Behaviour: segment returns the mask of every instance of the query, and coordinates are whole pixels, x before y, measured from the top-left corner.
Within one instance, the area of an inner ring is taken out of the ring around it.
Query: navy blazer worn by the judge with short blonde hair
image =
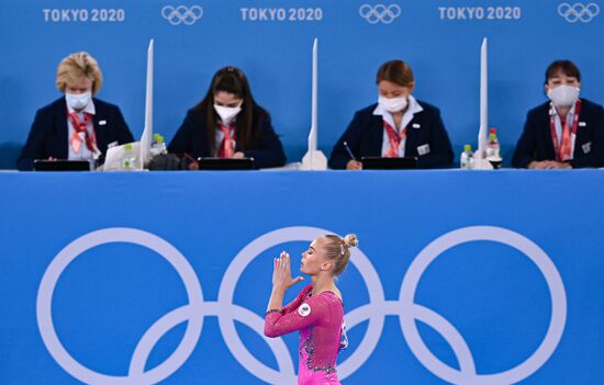
[[[97,135],[97,147],[104,157],[107,146],[113,141],[122,145],[134,141],[122,112],[116,105],[99,99],[94,102],[92,118]],[[103,122],[102,125],[99,122]],[[37,110],[27,140],[16,160],[21,171],[33,170],[35,159],[67,159],[69,156],[69,128],[67,125],[67,102],[65,98]]]

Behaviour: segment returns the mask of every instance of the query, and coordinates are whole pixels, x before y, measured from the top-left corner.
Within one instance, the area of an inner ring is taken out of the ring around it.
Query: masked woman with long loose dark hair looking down
[[[254,158],[256,168],[286,163],[268,112],[256,104],[244,72],[219,70],[205,98],[189,110],[168,150],[181,157]],[[191,162],[190,169],[198,163]]]

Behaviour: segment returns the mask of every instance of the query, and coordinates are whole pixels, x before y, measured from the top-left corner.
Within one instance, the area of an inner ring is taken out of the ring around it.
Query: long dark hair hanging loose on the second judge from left
[[[237,115],[237,124],[235,126],[235,137],[238,147],[248,149],[254,145],[254,120],[256,102],[251,95],[249,83],[244,72],[236,67],[221,68],[212,78],[212,83],[208,89],[208,93],[203,100],[193,109],[200,113],[205,113],[208,143],[210,151],[213,154],[215,149],[215,129],[219,124],[219,116],[214,111],[214,95],[219,92],[233,93],[242,99],[242,112]]]

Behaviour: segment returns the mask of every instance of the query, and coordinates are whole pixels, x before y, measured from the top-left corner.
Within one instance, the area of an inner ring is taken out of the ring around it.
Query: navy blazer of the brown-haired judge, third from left
[[[424,169],[448,167],[452,163],[454,152],[449,136],[440,118],[440,112],[434,105],[417,101],[424,109],[413,115],[407,125],[405,139],[405,157],[417,157],[417,167]],[[378,104],[372,104],[355,113],[353,122],[334,146],[329,157],[332,169],[345,169],[350,155],[344,147],[344,141],[360,160],[362,157],[380,157],[382,155],[383,120],[373,115]],[[413,125],[420,125],[414,128]],[[428,145],[429,152],[417,154],[417,147]]]

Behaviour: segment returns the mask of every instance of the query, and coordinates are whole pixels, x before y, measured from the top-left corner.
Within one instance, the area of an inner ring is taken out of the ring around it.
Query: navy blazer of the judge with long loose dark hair
[[[205,112],[197,109],[189,110],[180,128],[170,141],[168,151],[178,155],[186,152],[195,159],[211,157],[205,116]],[[268,112],[260,106],[256,106],[254,122],[255,144],[253,148],[242,150],[237,143],[235,151],[242,151],[246,157],[254,158],[254,165],[258,169],[286,165],[286,152],[283,152],[279,136],[272,128]]]

